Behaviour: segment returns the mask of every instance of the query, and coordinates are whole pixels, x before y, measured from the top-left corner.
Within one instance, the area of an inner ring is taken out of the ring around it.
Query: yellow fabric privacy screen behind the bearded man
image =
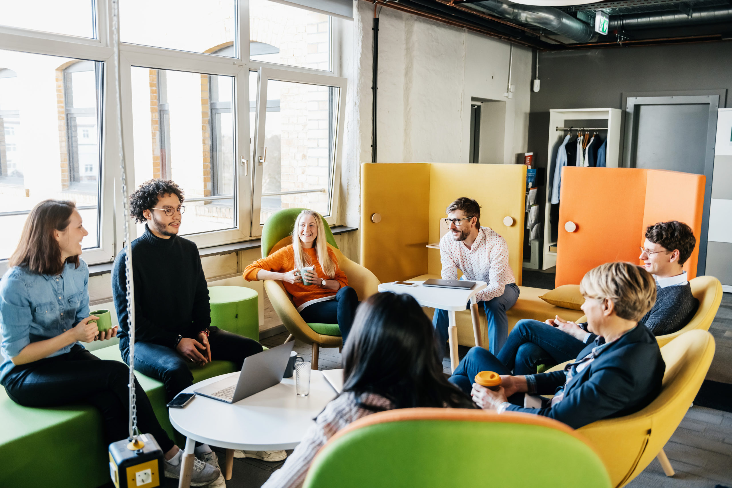
[[[481,206],[480,224],[506,239],[516,283],[523,265],[525,165],[361,165],[361,264],[381,282],[440,274],[440,219],[458,197]],[[378,214],[378,215],[375,215]],[[511,225],[504,224],[511,217]],[[379,220],[380,219],[380,220]],[[379,222],[375,222],[379,220]]]

